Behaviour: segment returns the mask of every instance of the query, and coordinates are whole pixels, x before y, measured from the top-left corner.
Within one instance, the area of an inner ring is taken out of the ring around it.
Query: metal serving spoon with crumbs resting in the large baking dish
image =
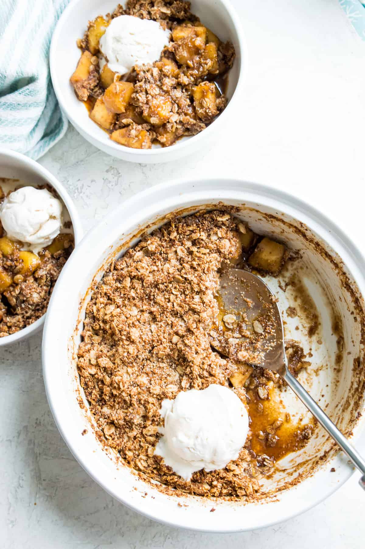
[[[318,406],[317,402],[312,399],[299,381],[289,372],[284,348],[282,315],[271,290],[256,275],[252,275],[252,273],[243,271],[242,269],[229,268],[222,273],[220,279],[220,298],[224,311],[244,321],[245,327],[250,334],[256,332],[255,352],[249,358],[245,359],[245,362],[251,364],[251,366],[263,366],[273,372],[277,372],[287,382],[296,396],[299,397],[327,433],[337,442],[355,467],[360,470],[362,473],[360,485],[365,490],[365,461],[355,448],[349,444],[349,441],[342,435],[327,414],[323,412],[322,408]],[[229,320],[231,319],[228,318]],[[223,337],[212,341],[212,346],[218,351],[224,355],[231,356],[229,355],[229,351],[227,351],[227,345],[225,345]]]

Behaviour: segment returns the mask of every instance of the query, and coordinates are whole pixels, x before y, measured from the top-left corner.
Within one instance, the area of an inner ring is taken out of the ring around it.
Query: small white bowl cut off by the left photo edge
[[[65,191],[65,188],[59,181],[57,181],[52,173],[38,164],[35,160],[28,158],[24,154],[16,153],[9,149],[0,148],[0,177],[20,179],[40,185],[48,183],[51,187],[53,187],[64,201],[66,209],[70,214],[75,236],[75,245],[80,242],[82,238],[82,226],[78,213],[72,203],[70,195],[67,191]],[[5,335],[5,337],[0,338],[0,347],[9,345],[10,343],[15,343],[15,341],[20,341],[21,339],[27,339],[30,335],[38,332],[43,327],[45,316],[46,315],[41,316],[41,318],[38,318],[36,322],[33,322],[29,326],[19,330],[19,332]]]

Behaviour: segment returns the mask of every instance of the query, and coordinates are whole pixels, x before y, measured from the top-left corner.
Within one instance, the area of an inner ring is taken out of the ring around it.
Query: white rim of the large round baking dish
[[[218,191],[214,194],[214,199],[221,199],[223,202],[224,200],[229,199],[236,199],[237,197],[237,191],[239,189],[241,196],[239,199],[242,199],[242,194],[247,194],[246,200],[254,201],[256,198],[262,200],[261,204],[270,205],[271,203],[274,203],[276,206],[279,205],[282,206],[281,211],[289,212],[289,215],[291,215],[291,210],[295,211],[296,216],[300,216],[299,219],[302,220],[302,217],[304,217],[304,222],[311,227],[311,225],[315,225],[316,227],[319,226],[322,229],[322,233],[319,235],[321,238],[326,240],[328,242],[328,239],[332,240],[332,234],[335,235],[335,242],[337,244],[338,248],[341,248],[342,251],[345,251],[345,255],[347,257],[347,261],[344,260],[347,268],[349,268],[353,278],[355,279],[358,288],[362,295],[365,295],[365,277],[363,275],[364,269],[365,269],[365,257],[361,253],[361,251],[357,248],[356,244],[353,243],[353,241],[347,237],[347,235],[338,227],[335,225],[335,223],[330,220],[327,216],[322,214],[321,211],[314,208],[312,205],[306,203],[306,201],[298,199],[294,197],[294,195],[291,195],[290,193],[283,192],[283,191],[276,191],[276,189],[273,189],[272,187],[265,186],[262,184],[256,184],[256,183],[250,183],[245,181],[239,181],[234,180],[231,178],[216,178],[216,179],[207,179],[204,181],[204,192],[208,193],[210,192],[209,189],[212,189],[214,184],[216,187],[218,187]],[[167,189],[170,190],[170,192],[173,192],[173,197],[175,199],[178,199],[183,195],[183,198],[188,200],[187,197],[192,198],[193,193],[196,194],[196,204],[201,203],[200,200],[202,200],[203,195],[200,193],[201,191],[201,185],[202,181],[199,180],[188,180],[188,179],[181,179],[178,181],[175,181],[173,183],[171,182],[165,182],[158,184],[156,186],[150,187],[149,189],[138,193],[131,197],[130,199],[126,200],[123,204],[119,205],[117,208],[114,209],[113,212],[111,212],[110,215],[110,224],[113,225],[113,222],[116,223],[116,225],[120,224],[120,219],[122,219],[121,214],[123,211],[125,212],[132,212],[133,209],[137,209],[139,205],[142,204],[142,201],[146,202],[146,199],[151,197],[151,195],[159,194],[162,196],[162,203],[163,201],[163,195],[164,191],[167,191]],[[181,193],[176,191],[179,187],[183,186],[184,188],[187,188],[188,190],[184,192],[183,190]],[[227,191],[227,188],[229,188],[229,191]],[[212,194],[210,196],[212,196]],[[221,195],[221,196],[220,196]],[[207,198],[206,195],[204,195],[204,198],[207,200],[207,203],[209,203],[209,198]],[[244,200],[243,200],[244,202]],[[156,198],[154,200],[154,204],[157,204]],[[159,201],[159,204],[160,201]],[[260,204],[260,202],[259,202]],[[172,209],[176,208],[178,209],[179,204],[177,204],[175,207],[172,206]],[[148,208],[148,206],[147,206]],[[139,209],[138,209],[139,211]],[[143,210],[144,211],[144,210]],[[155,212],[155,210],[154,210]],[[128,215],[128,214],[127,214]],[[133,215],[133,214],[131,214]],[[140,215],[140,214],[139,214]],[[298,217],[296,218],[298,219]],[[311,221],[311,223],[307,223],[307,219]],[[129,221],[129,220],[128,220]],[[134,220],[133,220],[134,221]],[[95,242],[95,239],[98,240],[98,234],[100,230],[103,230],[101,228],[102,223],[105,223],[105,220],[100,221],[96,227],[90,231],[86,238],[83,240],[83,242],[78,246],[78,250],[80,251],[80,248],[83,248],[85,250],[88,249],[90,242]],[[105,232],[105,227],[104,227]],[[332,234],[331,234],[332,233]],[[324,236],[325,235],[325,236]],[[96,241],[97,241],[96,240]],[[103,249],[105,249],[105,242],[102,242]],[[100,243],[100,250],[102,249],[102,244]],[[332,246],[332,244],[330,244]],[[334,248],[335,251],[336,248]],[[110,248],[110,251],[111,248]],[[99,250],[97,251],[99,254]],[[102,252],[100,251],[100,254]],[[76,253],[77,256],[77,253]],[[68,271],[71,272],[71,270],[77,265],[77,259],[76,256],[74,257],[74,261],[70,261],[68,266],[65,266],[65,270],[61,273],[60,277],[65,277],[68,273]],[[342,256],[341,256],[342,257]],[[342,258],[343,259],[343,258]],[[349,266],[349,262],[351,267]],[[353,274],[353,269],[355,269],[356,275]],[[78,291],[78,295],[80,295],[80,291]],[[83,299],[83,296],[80,295],[80,299]],[[311,482],[311,478],[303,480],[300,485],[291,488],[290,490],[287,490],[287,494],[290,492],[296,491],[296,502],[295,505],[293,505],[293,498],[291,501],[291,505],[286,505],[285,508],[285,495],[280,497],[283,497],[284,501],[283,507],[285,509],[284,513],[280,512],[280,516],[275,516],[274,518],[267,518],[260,524],[255,524],[254,526],[251,525],[245,525],[239,522],[239,518],[235,519],[235,526],[231,526],[227,528],[225,527],[224,523],[220,524],[219,520],[215,520],[211,522],[208,522],[206,520],[203,523],[194,524],[192,525],[189,523],[189,518],[187,518],[187,513],[183,514],[177,514],[173,513],[169,518],[161,516],[159,514],[159,511],[154,510],[154,506],[150,505],[148,508],[144,507],[144,503],[136,503],[132,496],[130,496],[128,493],[121,491],[118,489],[115,484],[111,483],[108,478],[105,476],[103,477],[103,474],[99,474],[98,470],[94,466],[91,465],[90,459],[89,459],[89,453],[85,454],[85,456],[82,456],[82,449],[80,445],[77,444],[77,441],[73,439],[73,435],[70,433],[70,429],[66,422],[63,421],[62,414],[58,412],[57,406],[55,406],[54,399],[57,401],[57,391],[58,391],[58,385],[55,383],[55,380],[53,381],[52,377],[54,376],[54,363],[52,361],[52,354],[54,346],[52,343],[53,335],[52,332],[54,331],[52,329],[52,308],[55,304],[55,301],[58,301],[59,298],[57,296],[57,292],[55,292],[52,295],[51,301],[50,301],[50,314],[48,315],[46,319],[46,323],[44,325],[43,330],[43,344],[42,344],[42,363],[43,363],[43,378],[44,378],[44,384],[46,387],[46,394],[49,402],[50,409],[52,411],[52,414],[55,419],[55,423],[57,424],[57,427],[63,436],[66,444],[68,445],[71,453],[74,455],[76,460],[81,464],[81,466],[86,470],[86,472],[100,485],[102,488],[104,488],[111,496],[115,497],[118,501],[122,502],[127,507],[133,509],[136,512],[139,512],[143,514],[144,516],[157,520],[158,522],[170,525],[170,526],[178,526],[179,528],[185,528],[189,530],[196,530],[196,531],[209,531],[209,532],[215,532],[215,533],[228,533],[233,531],[245,531],[245,530],[252,530],[257,528],[263,528],[266,526],[271,526],[273,524],[281,523],[284,520],[287,520],[289,518],[293,518],[296,515],[307,511],[311,507],[317,505],[319,502],[323,501],[325,498],[333,494],[334,491],[336,491],[342,484],[345,483],[346,480],[348,480],[353,471],[352,467],[349,466],[346,459],[343,458],[343,456],[338,453],[332,460],[329,460],[325,466],[320,468],[315,476],[318,473],[323,473],[327,475],[329,473],[330,467],[333,465],[333,461],[335,460],[336,464],[336,470],[338,470],[338,475],[336,474],[335,482],[329,483],[327,481],[327,477],[324,484],[324,489],[319,490],[317,489],[317,483],[315,488],[311,488],[311,495],[309,494],[310,490],[308,490],[308,486],[310,488],[311,485],[308,485],[308,482]],[[58,305],[58,304],[57,304]],[[55,306],[55,309],[58,309],[58,306]],[[74,326],[76,326],[77,319],[74,319]],[[64,345],[64,344],[63,344]],[[65,345],[64,345],[65,347]],[[364,407],[364,404],[363,404]],[[353,436],[351,440],[358,439],[361,432],[364,428],[364,422],[358,423],[356,427],[353,429]],[[330,473],[329,473],[330,476]],[[138,481],[136,480],[138,483]],[[301,490],[299,489],[301,488]],[[285,491],[284,491],[285,492]],[[281,494],[284,494],[284,492],[281,492]],[[301,497],[298,497],[298,493],[301,495]],[[289,496],[290,497],[290,496]],[[142,500],[141,500],[142,502]],[[260,502],[259,502],[260,503]],[[275,505],[276,502],[273,503]],[[261,502],[262,504],[262,502]],[[271,503],[268,503],[268,505],[271,505]],[[272,509],[272,507],[271,507]],[[207,513],[209,514],[209,513]],[[191,520],[191,519],[190,519]],[[208,525],[209,524],[209,525]]]

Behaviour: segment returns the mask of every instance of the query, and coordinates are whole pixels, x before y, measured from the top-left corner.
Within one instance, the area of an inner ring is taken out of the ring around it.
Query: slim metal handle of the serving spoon
[[[325,414],[315,402],[311,395],[307,393],[305,388],[299,383],[299,381],[289,372],[286,368],[285,373],[282,374],[282,378],[288,383],[290,389],[293,389],[297,397],[303,402],[303,404],[312,412],[313,416],[321,423],[322,427],[327,431],[327,433],[332,436],[332,438],[337,442],[341,449],[346,453],[350,458],[352,463],[357,467],[358,470],[363,474],[360,479],[360,485],[365,490],[365,460],[361,457],[360,453],[355,450],[353,446],[349,443],[344,435],[339,431],[336,425],[329,419],[327,414]]]

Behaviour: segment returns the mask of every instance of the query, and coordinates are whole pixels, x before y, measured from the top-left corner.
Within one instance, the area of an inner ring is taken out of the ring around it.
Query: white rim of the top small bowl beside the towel
[[[125,0],[123,0],[124,3]],[[103,138],[99,137],[99,133],[96,132],[91,133],[89,132],[84,126],[83,126],[83,120],[76,120],[76,118],[70,113],[70,109],[68,107],[68,102],[63,100],[63,92],[61,89],[61,86],[59,86],[58,78],[57,78],[57,63],[55,63],[55,51],[57,49],[57,44],[60,40],[60,33],[61,33],[61,26],[64,24],[64,22],[71,16],[72,10],[77,9],[77,5],[81,2],[85,2],[85,0],[74,0],[73,2],[70,2],[68,6],[64,9],[63,13],[61,14],[59,20],[57,21],[57,24],[54,28],[52,39],[50,42],[50,49],[49,49],[49,68],[50,68],[50,77],[52,80],[53,89],[55,92],[55,95],[57,97],[58,103],[60,104],[61,109],[65,113],[66,117],[70,120],[72,126],[76,128],[76,130],[81,133],[87,141],[92,143],[94,146],[100,148],[101,150],[104,150],[106,148],[110,149],[111,151],[117,153],[120,152],[122,148],[122,152],[126,155],[131,156],[131,160],[133,160],[133,156],[136,156],[136,162],[141,162],[140,159],[137,159],[138,155],[140,156],[143,154],[144,156],[148,158],[154,158],[159,159],[161,156],[166,156],[168,153],[171,154],[171,149],[178,147],[179,150],[187,149],[188,147],[193,147],[195,149],[195,144],[198,145],[198,141],[201,141],[201,139],[209,138],[212,136],[212,126],[215,126],[215,129],[217,130],[217,122],[220,121],[220,124],[227,118],[227,114],[224,116],[224,113],[231,114],[233,113],[231,104],[235,105],[237,103],[237,99],[239,96],[239,91],[243,87],[244,82],[244,74],[247,73],[248,70],[248,54],[247,54],[247,46],[246,41],[244,38],[244,32],[243,32],[243,26],[240,23],[240,18],[237,14],[237,11],[231,4],[231,0],[218,0],[221,2],[224,7],[226,7],[228,14],[231,16],[235,31],[237,32],[239,47],[241,51],[240,55],[240,65],[239,65],[239,72],[238,72],[238,81],[237,86],[234,89],[233,96],[229,100],[227,107],[222,111],[222,113],[209,125],[205,128],[205,130],[197,133],[194,136],[190,136],[189,139],[186,141],[179,141],[177,142],[174,147],[159,147],[156,149],[132,149],[129,147],[123,147],[123,145],[120,145],[118,143],[115,143],[114,141],[111,141],[111,139],[104,140]],[[205,137],[202,137],[205,135]],[[113,154],[110,152],[110,154]]]

